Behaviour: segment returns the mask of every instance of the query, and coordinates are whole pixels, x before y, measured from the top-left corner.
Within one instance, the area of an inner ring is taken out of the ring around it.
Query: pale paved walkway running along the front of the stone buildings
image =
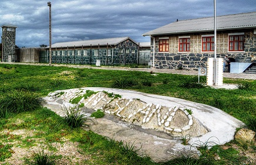
[[[49,66],[49,64],[45,64],[45,63],[5,63],[5,62],[1,62],[0,64],[20,64],[20,65]],[[87,66],[87,65],[73,65],[73,64],[52,64],[52,65],[53,66],[75,67],[75,68],[104,69],[104,70],[136,70],[136,71],[147,71],[147,72],[153,72],[153,73],[198,75],[198,71],[194,71],[194,70],[170,70],[170,69],[156,69],[156,68],[129,68],[129,67],[116,67],[116,66],[93,67],[93,66]],[[241,79],[256,80],[256,74],[248,74],[248,73],[223,73],[223,77],[225,77],[225,78],[241,78]]]

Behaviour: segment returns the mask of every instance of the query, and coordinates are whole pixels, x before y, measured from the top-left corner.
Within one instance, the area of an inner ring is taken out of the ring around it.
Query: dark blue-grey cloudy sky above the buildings
[[[0,25],[14,25],[18,47],[49,46],[44,0],[1,0]],[[214,0],[52,0],[52,44],[112,37],[150,42],[143,33],[171,22],[214,16]],[[217,16],[255,12],[256,0],[216,0]],[[2,29],[0,31],[2,36]]]

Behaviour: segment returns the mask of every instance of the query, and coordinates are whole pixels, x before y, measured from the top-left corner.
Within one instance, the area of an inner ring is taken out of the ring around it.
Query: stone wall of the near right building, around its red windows
[[[217,32],[217,57],[232,57],[236,62],[256,62],[255,29]],[[244,33],[244,51],[228,51],[228,33]],[[207,65],[208,57],[214,57],[214,52],[202,51],[202,35],[213,33],[190,33],[183,35],[165,35],[155,37],[154,66],[156,68],[197,70]],[[190,52],[178,52],[178,37],[190,36]],[[159,51],[159,39],[169,38],[169,52]],[[151,37],[151,60],[153,60],[154,38]]]

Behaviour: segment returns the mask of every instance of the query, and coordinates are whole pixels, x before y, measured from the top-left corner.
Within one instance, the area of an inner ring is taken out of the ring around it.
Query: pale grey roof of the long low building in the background
[[[117,38],[109,38],[109,39],[94,39],[94,40],[81,40],[81,41],[73,41],[73,42],[59,42],[59,43],[54,43],[52,44],[53,47],[88,47],[90,44],[92,46],[106,46],[108,45],[117,45],[120,42],[124,42],[125,40],[130,39],[130,37],[117,37]],[[132,39],[130,39],[132,40]],[[133,41],[133,40],[132,40]],[[134,41],[133,41],[134,42]],[[136,42],[134,42],[136,43]],[[136,43],[137,44],[137,43]],[[49,48],[49,46],[47,47]]]

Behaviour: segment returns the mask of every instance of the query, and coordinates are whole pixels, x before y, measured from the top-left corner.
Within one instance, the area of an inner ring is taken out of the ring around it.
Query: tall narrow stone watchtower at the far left
[[[2,62],[15,62],[16,26],[2,26]]]

